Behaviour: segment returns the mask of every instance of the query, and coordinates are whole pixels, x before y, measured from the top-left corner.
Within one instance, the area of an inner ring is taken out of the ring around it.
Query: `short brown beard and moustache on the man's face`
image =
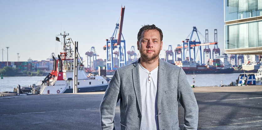
[[[160,48],[158,50],[152,50],[152,51],[154,51],[153,55],[147,53],[148,50],[149,49],[143,50],[143,49],[139,48],[141,58],[143,58],[144,61],[150,62],[152,60],[158,59],[158,56],[159,56],[159,53],[160,53]]]

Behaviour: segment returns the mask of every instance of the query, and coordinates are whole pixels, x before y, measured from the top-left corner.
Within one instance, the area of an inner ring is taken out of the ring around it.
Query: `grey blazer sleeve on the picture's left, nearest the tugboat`
[[[120,78],[118,70],[110,80],[100,104],[100,119],[102,130],[115,130],[115,106],[121,98]]]

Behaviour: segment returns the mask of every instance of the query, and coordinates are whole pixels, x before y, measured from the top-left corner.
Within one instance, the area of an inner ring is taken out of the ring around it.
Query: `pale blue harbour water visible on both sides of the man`
[[[240,73],[232,74],[197,74],[195,76],[195,86],[220,86],[222,84],[228,85],[231,81],[236,81]],[[190,85],[193,85],[193,74],[186,75]],[[112,75],[111,75],[112,76]],[[108,75],[110,77],[110,75]],[[9,91],[12,92],[18,84],[20,86],[28,86],[32,84],[39,84],[45,76],[21,76],[21,77],[3,77],[0,79],[0,92]],[[38,82],[38,83],[37,83]]]

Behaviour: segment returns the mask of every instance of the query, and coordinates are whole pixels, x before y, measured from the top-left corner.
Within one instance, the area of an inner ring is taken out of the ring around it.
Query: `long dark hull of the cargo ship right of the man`
[[[202,69],[202,70],[190,70],[190,69],[184,69],[184,72],[186,74],[231,74],[233,73],[234,69],[233,68],[228,68],[228,69]]]

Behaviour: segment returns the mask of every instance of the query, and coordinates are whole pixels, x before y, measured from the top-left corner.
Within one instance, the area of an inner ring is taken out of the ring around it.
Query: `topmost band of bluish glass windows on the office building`
[[[262,0],[225,0],[225,22],[257,16],[262,16]]]

